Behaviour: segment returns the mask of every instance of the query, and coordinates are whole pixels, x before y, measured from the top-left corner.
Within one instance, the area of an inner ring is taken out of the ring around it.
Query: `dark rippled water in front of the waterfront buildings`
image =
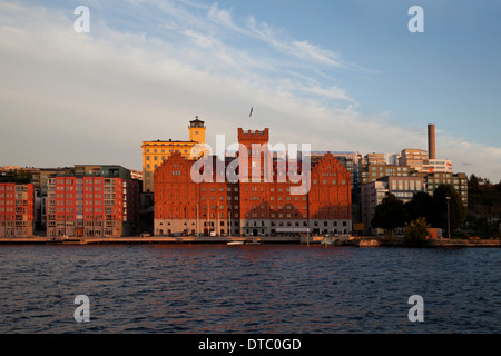
[[[0,333],[501,333],[500,266],[494,248],[0,246]]]

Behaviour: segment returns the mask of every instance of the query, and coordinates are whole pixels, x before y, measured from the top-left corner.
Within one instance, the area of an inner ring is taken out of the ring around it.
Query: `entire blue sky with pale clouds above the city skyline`
[[[500,19],[501,0],[0,0],[0,166],[141,170],[141,142],[196,116],[214,150],[242,127],[363,156],[426,150],[434,123],[436,158],[498,182]]]

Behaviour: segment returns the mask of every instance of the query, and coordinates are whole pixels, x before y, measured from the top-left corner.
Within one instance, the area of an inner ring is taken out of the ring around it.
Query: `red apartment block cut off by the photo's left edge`
[[[33,185],[0,184],[0,237],[31,237],[33,229]]]

